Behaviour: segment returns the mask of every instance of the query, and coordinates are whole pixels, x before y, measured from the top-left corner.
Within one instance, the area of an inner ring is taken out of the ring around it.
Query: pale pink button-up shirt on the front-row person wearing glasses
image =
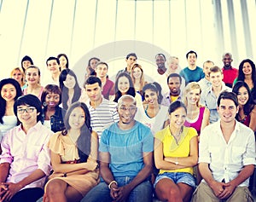
[[[10,164],[6,182],[20,182],[37,169],[43,170],[46,176],[49,175],[51,166],[47,144],[52,134],[40,121],[27,133],[21,129],[21,124],[9,130],[3,137],[3,153],[0,155],[0,164]],[[44,188],[46,176],[24,188]]]

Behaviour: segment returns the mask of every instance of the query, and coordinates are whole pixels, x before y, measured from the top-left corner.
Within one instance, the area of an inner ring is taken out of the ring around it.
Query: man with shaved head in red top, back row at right
[[[230,53],[224,53],[222,61],[224,63],[224,67],[222,68],[222,72],[224,75],[223,81],[226,86],[232,88],[233,82],[238,75],[238,69],[231,66],[231,62],[233,61],[233,59]]]

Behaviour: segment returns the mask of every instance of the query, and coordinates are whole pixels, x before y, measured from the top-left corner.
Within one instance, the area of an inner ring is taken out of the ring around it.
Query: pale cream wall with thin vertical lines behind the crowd
[[[9,77],[24,55],[44,75],[49,56],[65,53],[73,68],[93,49],[123,40],[150,43],[177,56],[182,67],[190,49],[199,66],[207,60],[222,66],[225,51],[236,67],[256,54],[255,0],[0,0],[0,14],[0,78]],[[109,75],[124,68],[125,55],[136,49],[134,43],[123,57],[115,49],[107,61]],[[137,56],[154,75],[152,53],[152,61]]]

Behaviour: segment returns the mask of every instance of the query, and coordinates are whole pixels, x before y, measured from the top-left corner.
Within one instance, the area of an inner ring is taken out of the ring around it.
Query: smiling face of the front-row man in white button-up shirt
[[[235,121],[238,107],[236,107],[234,101],[230,99],[221,99],[219,107],[217,107],[220,120],[224,123],[232,123]]]

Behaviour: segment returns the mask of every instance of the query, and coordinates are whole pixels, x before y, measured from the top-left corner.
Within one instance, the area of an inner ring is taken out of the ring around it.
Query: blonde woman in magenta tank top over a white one
[[[196,82],[189,83],[184,90],[183,103],[188,109],[186,121],[187,127],[193,127],[200,136],[203,130],[209,124],[210,111],[205,106],[200,105],[201,87]]]

